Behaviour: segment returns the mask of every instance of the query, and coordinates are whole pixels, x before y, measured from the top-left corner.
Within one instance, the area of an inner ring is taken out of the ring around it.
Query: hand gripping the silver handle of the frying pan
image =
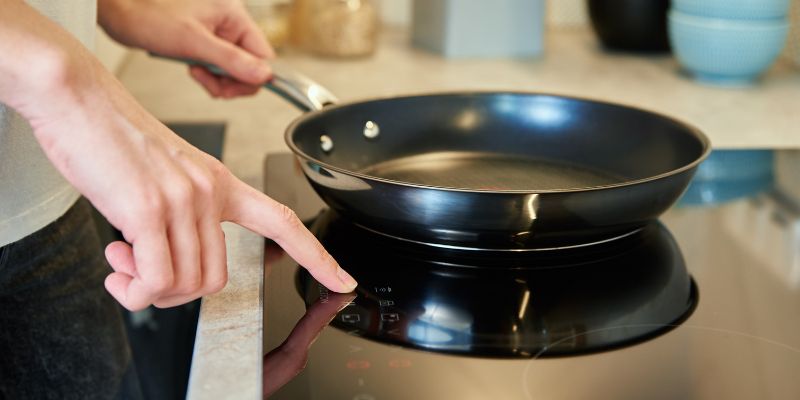
[[[275,53],[240,0],[100,0],[99,21],[122,44],[216,64],[231,77],[190,67],[214,97],[251,95],[271,74]]]

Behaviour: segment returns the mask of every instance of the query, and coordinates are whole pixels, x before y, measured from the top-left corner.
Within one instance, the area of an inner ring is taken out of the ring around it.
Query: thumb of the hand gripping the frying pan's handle
[[[256,57],[243,48],[203,30],[192,56],[222,68],[238,81],[260,85],[272,75],[266,60]]]

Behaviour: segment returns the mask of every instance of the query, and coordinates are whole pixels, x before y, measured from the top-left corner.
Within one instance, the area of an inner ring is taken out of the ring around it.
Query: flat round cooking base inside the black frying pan
[[[477,190],[564,190],[626,181],[593,168],[485,152],[431,152],[387,160],[359,172],[418,185]]]

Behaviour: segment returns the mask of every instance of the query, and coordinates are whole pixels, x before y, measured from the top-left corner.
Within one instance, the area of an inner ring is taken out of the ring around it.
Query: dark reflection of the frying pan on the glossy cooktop
[[[591,353],[669,331],[698,299],[659,223],[604,245],[522,256],[393,247],[331,214],[314,230],[360,283],[332,325],[404,347],[485,357]],[[305,270],[298,274],[306,304],[325,295]]]

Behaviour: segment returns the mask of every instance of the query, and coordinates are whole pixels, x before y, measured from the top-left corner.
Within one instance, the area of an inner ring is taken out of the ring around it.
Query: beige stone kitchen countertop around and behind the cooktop
[[[781,60],[755,86],[702,86],[679,72],[671,56],[602,51],[584,29],[549,31],[545,54],[532,60],[445,60],[411,48],[402,30],[384,32],[370,58],[320,59],[298,52],[284,63],[314,77],[342,101],[459,90],[541,91],[635,105],[699,127],[715,148],[800,149],[800,70]],[[262,91],[252,98],[214,100],[185,67],[133,53],[120,71],[126,87],[164,121],[226,121],[223,159],[261,188],[268,152],[288,151],[283,131],[299,112]],[[226,225],[230,282],[203,300],[190,398],[260,395],[262,240]]]

